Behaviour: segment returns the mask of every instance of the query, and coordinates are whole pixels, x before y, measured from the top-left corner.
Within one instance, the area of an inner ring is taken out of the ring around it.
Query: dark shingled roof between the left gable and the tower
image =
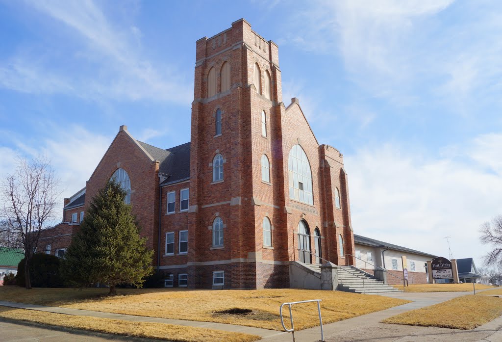
[[[163,150],[139,141],[145,150],[160,162],[159,172],[168,177],[162,184],[176,182],[190,177],[190,143]]]

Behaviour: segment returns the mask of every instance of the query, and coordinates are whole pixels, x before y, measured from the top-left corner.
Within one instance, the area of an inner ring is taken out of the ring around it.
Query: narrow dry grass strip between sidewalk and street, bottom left
[[[72,316],[45,311],[14,309],[5,306],[0,306],[0,317],[116,335],[165,339],[176,342],[217,342],[222,340],[252,342],[260,339],[260,336],[240,332],[227,332],[163,323]]]

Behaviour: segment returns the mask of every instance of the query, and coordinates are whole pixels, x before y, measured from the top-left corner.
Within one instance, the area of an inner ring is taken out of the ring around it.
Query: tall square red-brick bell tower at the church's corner
[[[194,88],[188,286],[219,288],[213,272],[223,271],[224,288],[287,287],[287,247],[264,250],[262,235],[265,213],[272,226],[283,224],[280,117],[285,108],[277,45],[255,33],[244,19],[211,38],[199,39]],[[264,153],[271,161],[269,183],[277,187],[262,182]],[[257,203],[257,192],[268,193],[267,202],[277,205]],[[215,241],[213,223],[218,217],[223,238],[219,240],[218,233]],[[270,260],[267,266],[264,258]],[[286,263],[281,267],[274,260]]]

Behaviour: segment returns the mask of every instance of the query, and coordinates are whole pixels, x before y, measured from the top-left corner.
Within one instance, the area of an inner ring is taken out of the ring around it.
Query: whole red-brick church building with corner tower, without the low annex
[[[243,19],[196,44],[190,142],[155,147],[121,126],[39,251],[63,256],[115,176],[166,286],[289,287],[291,262],[353,265],[343,156],[319,144],[297,98],[283,102],[278,46]]]

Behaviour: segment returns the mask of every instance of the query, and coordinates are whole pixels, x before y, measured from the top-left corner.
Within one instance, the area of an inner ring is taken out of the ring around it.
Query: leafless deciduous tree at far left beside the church
[[[27,289],[31,289],[28,263],[37,249],[40,232],[55,218],[54,209],[62,193],[59,185],[50,162],[42,157],[30,161],[18,158],[14,173],[0,184],[4,197],[0,207],[2,237],[7,247],[24,250]]]

